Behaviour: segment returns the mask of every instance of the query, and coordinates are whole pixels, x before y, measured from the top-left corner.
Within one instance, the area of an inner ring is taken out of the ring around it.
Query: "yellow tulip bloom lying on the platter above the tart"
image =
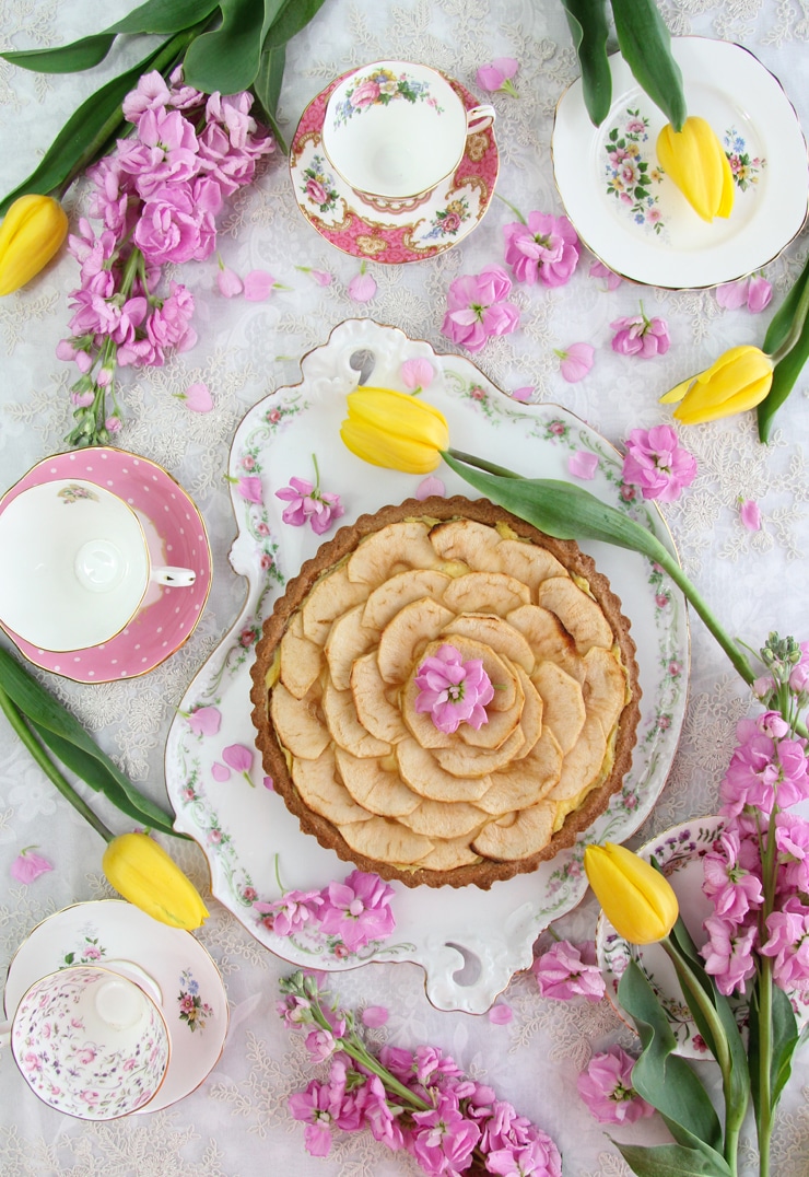
[[[439,465],[449,428],[437,408],[393,388],[357,388],[347,400],[340,437],[357,458],[406,474],[428,474]]]

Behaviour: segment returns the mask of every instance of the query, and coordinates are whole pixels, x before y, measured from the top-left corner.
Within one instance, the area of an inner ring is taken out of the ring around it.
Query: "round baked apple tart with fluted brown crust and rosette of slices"
[[[416,710],[450,645],[494,687],[479,729]],[[628,621],[577,545],[486,500],[408,500],[325,544],[268,618],[253,719],[275,791],[347,860],[488,887],[571,845],[629,767]]]

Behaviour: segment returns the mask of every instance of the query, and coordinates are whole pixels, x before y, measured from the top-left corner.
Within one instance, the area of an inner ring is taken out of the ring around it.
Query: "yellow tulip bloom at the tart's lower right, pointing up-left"
[[[607,919],[624,940],[654,944],[669,935],[677,920],[677,897],[650,863],[607,842],[587,847],[584,870]]]

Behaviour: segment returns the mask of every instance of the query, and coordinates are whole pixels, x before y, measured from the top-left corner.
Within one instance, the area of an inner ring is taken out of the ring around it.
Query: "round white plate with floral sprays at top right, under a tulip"
[[[610,58],[613,105],[600,127],[581,79],[556,107],[554,177],[564,211],[607,266],[671,290],[716,286],[773,261],[807,217],[807,144],[781,82],[748,49],[700,36],[673,40],[688,109],[722,141],[735,184],[729,218],[701,220],[657,165],[666,117],[623,58]]]

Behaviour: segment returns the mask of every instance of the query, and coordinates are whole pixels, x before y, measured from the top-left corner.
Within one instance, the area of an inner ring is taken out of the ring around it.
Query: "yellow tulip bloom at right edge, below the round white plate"
[[[700,425],[755,408],[770,391],[775,361],[760,347],[730,347],[698,375],[689,377],[660,398],[662,405],[682,401],[674,415],[683,425]]]

